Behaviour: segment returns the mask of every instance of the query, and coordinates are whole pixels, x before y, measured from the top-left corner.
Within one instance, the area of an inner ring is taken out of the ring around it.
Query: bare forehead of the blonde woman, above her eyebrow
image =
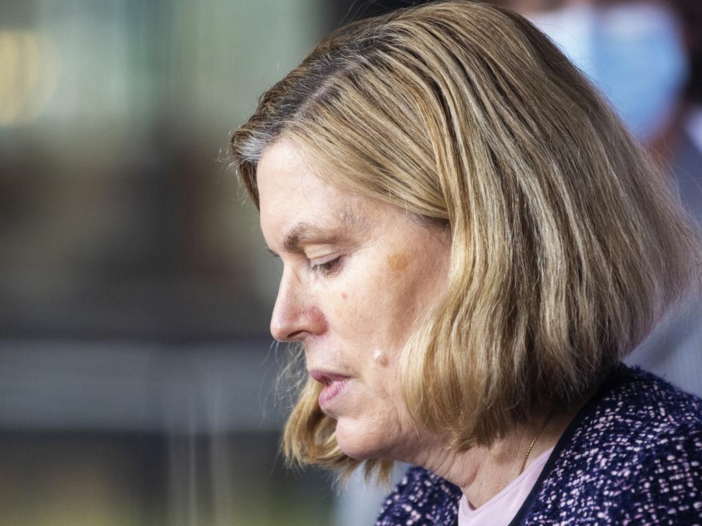
[[[261,228],[275,236],[300,222],[319,227],[352,224],[366,210],[368,198],[325,182],[303,149],[281,140],[263,151],[256,171]]]

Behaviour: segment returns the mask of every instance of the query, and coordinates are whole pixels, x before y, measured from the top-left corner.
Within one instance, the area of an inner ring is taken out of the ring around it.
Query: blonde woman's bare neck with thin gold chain
[[[548,422],[531,448],[527,468],[543,452],[554,447],[577,410],[567,414],[539,414],[528,425],[519,426],[497,440],[491,447],[472,447],[456,452],[448,447],[423,448],[412,461],[457,485],[470,504],[478,508],[501,492],[519,476],[524,456],[543,423]]]

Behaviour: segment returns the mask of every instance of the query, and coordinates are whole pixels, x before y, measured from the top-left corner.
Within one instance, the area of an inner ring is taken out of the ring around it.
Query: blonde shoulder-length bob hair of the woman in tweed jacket
[[[400,387],[418,429],[458,450],[580,402],[698,275],[665,175],[503,8],[425,4],[320,42],[232,137],[257,205],[256,166],[282,137],[331,184],[450,229],[449,286],[402,351]],[[348,473],[319,389],[303,387],[284,452]]]

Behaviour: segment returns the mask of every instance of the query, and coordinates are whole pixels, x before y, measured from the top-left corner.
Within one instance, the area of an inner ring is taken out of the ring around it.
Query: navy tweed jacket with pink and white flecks
[[[460,499],[458,487],[410,468],[376,526],[457,525]],[[554,447],[518,525],[702,526],[702,400],[616,367]]]

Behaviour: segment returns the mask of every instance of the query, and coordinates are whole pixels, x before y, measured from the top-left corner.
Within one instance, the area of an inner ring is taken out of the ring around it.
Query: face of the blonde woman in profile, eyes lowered
[[[399,351],[444,290],[448,232],[331,187],[291,141],[265,149],[257,179],[263,236],[284,264],[272,335],[304,344],[343,452],[406,457],[416,433],[399,392]]]

